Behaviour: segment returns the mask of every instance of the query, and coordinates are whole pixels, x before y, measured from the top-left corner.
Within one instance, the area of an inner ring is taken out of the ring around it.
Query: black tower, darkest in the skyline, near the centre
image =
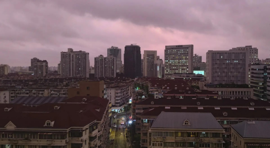
[[[135,44],[125,46],[124,71],[126,77],[141,77],[140,46]]]

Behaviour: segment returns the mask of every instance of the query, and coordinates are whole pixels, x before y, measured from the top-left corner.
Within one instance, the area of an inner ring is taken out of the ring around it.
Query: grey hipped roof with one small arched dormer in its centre
[[[183,125],[188,120],[190,125]],[[211,113],[202,112],[161,112],[151,128],[173,129],[223,129]]]

